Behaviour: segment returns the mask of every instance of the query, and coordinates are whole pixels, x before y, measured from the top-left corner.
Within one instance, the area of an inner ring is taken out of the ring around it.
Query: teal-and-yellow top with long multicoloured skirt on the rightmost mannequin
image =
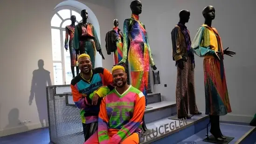
[[[228,98],[223,49],[219,33],[213,27],[202,25],[197,31],[191,49],[196,55],[204,57],[206,115],[226,115],[232,110]],[[220,60],[215,51],[222,52],[218,54]]]

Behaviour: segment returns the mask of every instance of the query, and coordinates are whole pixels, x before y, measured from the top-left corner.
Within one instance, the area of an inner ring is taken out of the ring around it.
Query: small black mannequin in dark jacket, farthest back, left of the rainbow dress
[[[119,22],[118,19],[113,21],[114,27],[112,30],[106,34],[106,49],[107,54],[111,55],[111,52],[114,52],[114,64],[118,64],[123,58],[123,41],[124,35],[121,30],[118,28]]]

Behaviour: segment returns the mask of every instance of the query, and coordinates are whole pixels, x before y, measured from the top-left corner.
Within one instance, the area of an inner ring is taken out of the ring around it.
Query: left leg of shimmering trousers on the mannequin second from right
[[[188,62],[183,61],[184,68],[180,69],[177,66],[177,84],[176,84],[176,104],[178,118],[188,117],[188,103],[187,103],[187,75]]]

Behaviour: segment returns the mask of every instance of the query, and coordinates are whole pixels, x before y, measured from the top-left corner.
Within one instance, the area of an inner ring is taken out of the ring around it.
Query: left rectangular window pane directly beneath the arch
[[[52,28],[52,59],[61,61],[61,34],[59,29]]]

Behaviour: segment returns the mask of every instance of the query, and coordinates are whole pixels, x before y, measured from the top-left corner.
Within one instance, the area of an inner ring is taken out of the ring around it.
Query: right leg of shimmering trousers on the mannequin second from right
[[[191,61],[191,57],[187,59],[188,75],[187,75],[187,97],[189,113],[192,115],[200,115],[195,101],[195,89],[194,89],[194,63]]]

